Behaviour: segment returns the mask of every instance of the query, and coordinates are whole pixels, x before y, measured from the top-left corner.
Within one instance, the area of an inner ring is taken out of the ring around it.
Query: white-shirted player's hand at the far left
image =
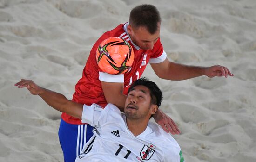
[[[18,88],[27,87],[29,92],[33,95],[38,95],[44,92],[43,88],[39,87],[31,80],[21,79],[18,83],[14,84],[14,86],[18,86]]]

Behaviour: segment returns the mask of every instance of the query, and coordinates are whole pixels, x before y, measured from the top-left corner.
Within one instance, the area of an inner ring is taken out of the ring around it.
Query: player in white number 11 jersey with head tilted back
[[[15,85],[27,87],[49,106],[94,126],[94,135],[76,162],[184,162],[175,139],[149,122],[162,102],[162,92],[152,81],[141,78],[129,88],[124,114],[113,104],[103,109],[96,104],[87,106],[67,100],[33,81],[22,79]]]

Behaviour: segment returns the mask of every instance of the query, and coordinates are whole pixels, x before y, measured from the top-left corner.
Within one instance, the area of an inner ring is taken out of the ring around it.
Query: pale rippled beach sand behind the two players
[[[94,42],[145,3],[161,13],[169,59],[234,74],[167,81],[150,65],[144,72],[179,125],[185,161],[256,162],[255,0],[0,0],[0,162],[63,161],[61,113],[14,83],[34,80],[72,99]]]

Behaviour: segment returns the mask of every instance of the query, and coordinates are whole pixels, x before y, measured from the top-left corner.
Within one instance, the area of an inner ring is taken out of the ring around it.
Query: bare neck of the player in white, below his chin
[[[148,126],[148,120],[141,119],[128,119],[126,118],[128,129],[133,133],[134,136],[140,135],[146,130]]]

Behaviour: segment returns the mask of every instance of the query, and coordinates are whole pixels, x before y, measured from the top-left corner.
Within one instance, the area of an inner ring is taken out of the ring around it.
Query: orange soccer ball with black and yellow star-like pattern
[[[96,62],[108,74],[128,72],[134,61],[131,45],[120,37],[109,37],[101,42],[96,51]]]

